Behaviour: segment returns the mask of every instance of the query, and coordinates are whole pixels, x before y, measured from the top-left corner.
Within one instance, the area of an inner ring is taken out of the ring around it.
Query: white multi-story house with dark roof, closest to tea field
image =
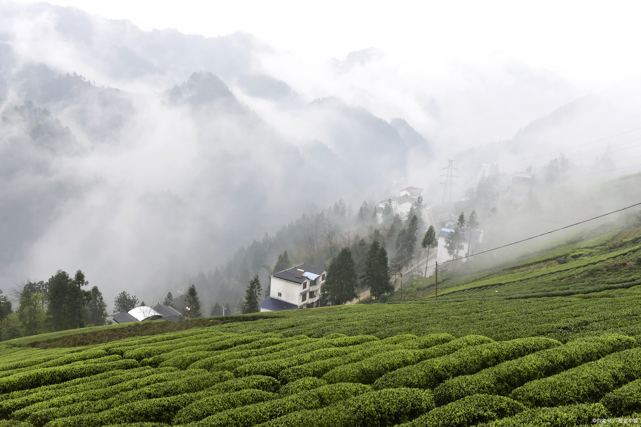
[[[319,295],[327,271],[310,264],[298,264],[271,275],[270,293],[260,303],[260,311],[319,307]]]

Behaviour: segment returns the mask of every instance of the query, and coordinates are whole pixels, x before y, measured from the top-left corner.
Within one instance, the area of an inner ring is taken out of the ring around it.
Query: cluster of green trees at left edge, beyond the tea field
[[[19,306],[12,310],[6,296],[0,297],[2,339],[60,330],[104,325],[106,303],[97,286],[78,270],[74,277],[58,270],[47,282],[27,282],[19,293]]]

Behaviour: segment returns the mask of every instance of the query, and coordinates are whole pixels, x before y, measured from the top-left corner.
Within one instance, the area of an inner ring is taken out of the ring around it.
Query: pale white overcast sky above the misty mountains
[[[26,2],[25,2],[26,3]],[[641,57],[631,1],[146,1],[58,0],[144,30],[204,36],[247,31],[306,61],[344,59],[377,47],[388,54],[474,61],[502,55],[549,68],[579,89],[602,90],[638,74]]]

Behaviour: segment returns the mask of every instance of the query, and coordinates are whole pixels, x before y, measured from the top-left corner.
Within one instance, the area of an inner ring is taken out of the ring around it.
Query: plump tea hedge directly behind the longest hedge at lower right
[[[506,360],[560,345],[554,339],[529,337],[465,347],[451,355],[424,360],[387,373],[376,380],[374,389],[433,388],[454,376],[470,375]]]

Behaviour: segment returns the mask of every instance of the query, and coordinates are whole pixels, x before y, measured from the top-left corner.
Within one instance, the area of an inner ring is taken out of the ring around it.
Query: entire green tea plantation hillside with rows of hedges
[[[639,240],[609,232],[454,271],[438,303],[417,279],[427,294],[406,302],[201,319],[88,346],[6,341],[0,426],[638,425]]]

